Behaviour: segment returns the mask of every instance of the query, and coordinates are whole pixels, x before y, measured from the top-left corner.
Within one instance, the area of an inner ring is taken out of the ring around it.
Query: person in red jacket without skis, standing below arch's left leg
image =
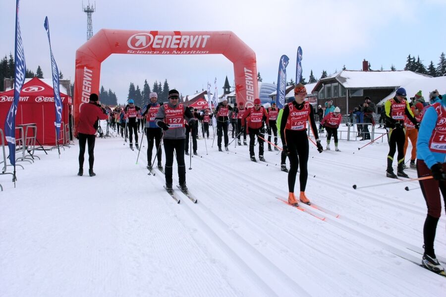
[[[79,139],[79,172],[77,175],[82,176],[84,174],[84,153],[85,144],[88,142],[88,163],[90,169],[88,173],[90,176],[95,176],[93,172],[93,163],[95,161],[94,149],[96,130],[99,126],[99,120],[106,120],[108,118],[107,111],[104,106],[98,104],[98,95],[91,94],[90,102],[83,103],[80,107],[79,124],[77,126],[78,139]]]

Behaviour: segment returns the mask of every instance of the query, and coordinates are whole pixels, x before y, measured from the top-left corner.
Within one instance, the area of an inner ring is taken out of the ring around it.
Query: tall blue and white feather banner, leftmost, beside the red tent
[[[20,25],[18,21],[19,0],[16,1],[15,10],[15,80],[14,80],[14,100],[9,108],[6,120],[4,122],[4,135],[8,142],[9,161],[15,166],[15,115],[17,113],[20,91],[25,81],[25,53],[23,51],[22,36],[20,34]],[[14,167],[15,171],[15,167]]]

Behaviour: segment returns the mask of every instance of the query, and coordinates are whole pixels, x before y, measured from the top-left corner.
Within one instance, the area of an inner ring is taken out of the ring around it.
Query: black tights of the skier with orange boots
[[[308,179],[308,137],[306,131],[286,130],[285,141],[289,150],[288,191],[294,192],[297,169],[300,165],[300,191],[305,192]]]

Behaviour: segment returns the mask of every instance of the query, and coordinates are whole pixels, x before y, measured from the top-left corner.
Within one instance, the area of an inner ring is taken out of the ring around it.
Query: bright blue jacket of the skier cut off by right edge
[[[442,107],[446,108],[446,102],[442,102]],[[432,106],[428,107],[424,112],[420,130],[418,131],[417,158],[424,160],[429,168],[437,162],[446,163],[446,153],[434,152],[429,149],[429,140],[437,124],[437,118],[438,115],[435,108]]]

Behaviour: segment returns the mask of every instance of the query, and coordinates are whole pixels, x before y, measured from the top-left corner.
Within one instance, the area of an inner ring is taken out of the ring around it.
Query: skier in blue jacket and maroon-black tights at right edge
[[[434,239],[442,212],[440,191],[446,202],[446,95],[440,102],[428,107],[423,115],[417,141],[418,177],[432,175],[433,179],[420,181],[428,213],[424,222],[424,254],[422,264],[436,273],[445,271],[435,256]]]

